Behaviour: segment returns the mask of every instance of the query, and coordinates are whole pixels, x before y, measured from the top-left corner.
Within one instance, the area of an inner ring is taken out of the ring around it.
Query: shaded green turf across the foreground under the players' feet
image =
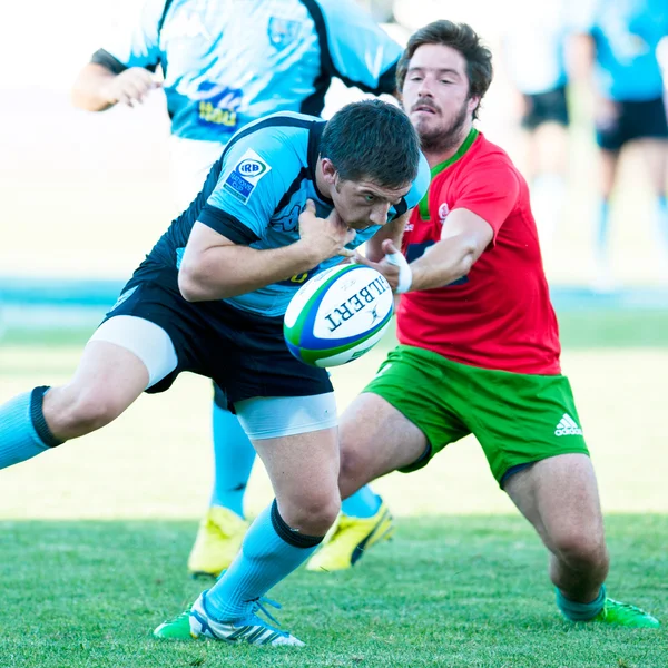
[[[0,666],[659,668],[668,627],[576,627],[557,613],[542,547],[519,518],[400,521],[343,573],[272,592],[304,649],[165,642],[151,629],[204,587],[185,577],[194,522],[2,522]],[[612,517],[609,590],[668,619],[668,518]],[[623,574],[622,574],[623,573]]]

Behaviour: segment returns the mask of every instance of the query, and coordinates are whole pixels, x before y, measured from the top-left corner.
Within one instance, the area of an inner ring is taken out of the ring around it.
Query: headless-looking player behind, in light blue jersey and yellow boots
[[[118,102],[132,107],[164,89],[180,212],[240,127],[278,110],[320,115],[333,78],[369,94],[394,94],[400,55],[401,47],[351,0],[146,0],[84,67],[72,99],[102,111]],[[214,489],[188,570],[217,576],[248,528],[244,494],[255,460],[217,387],[213,435]],[[343,512],[340,548],[321,556],[316,570],[350,568],[364,553],[357,546],[369,549],[393,531],[387,508],[369,488]]]

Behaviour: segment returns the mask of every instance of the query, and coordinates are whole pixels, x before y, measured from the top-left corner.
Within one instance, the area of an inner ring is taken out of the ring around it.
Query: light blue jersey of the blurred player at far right
[[[597,78],[606,97],[661,97],[657,45],[668,35],[667,0],[598,0],[587,28],[596,41]]]

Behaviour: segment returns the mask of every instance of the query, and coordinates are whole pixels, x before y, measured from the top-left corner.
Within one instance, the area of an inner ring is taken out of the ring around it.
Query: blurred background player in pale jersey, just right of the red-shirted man
[[[518,0],[502,36],[502,62],[518,92],[523,129],[522,173],[531,188],[543,255],[552,246],[567,195],[566,41],[568,0]],[[522,21],[517,20],[522,16]]]

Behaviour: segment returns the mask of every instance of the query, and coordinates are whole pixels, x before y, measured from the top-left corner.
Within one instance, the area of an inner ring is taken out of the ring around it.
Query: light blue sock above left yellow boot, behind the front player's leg
[[[244,517],[244,494],[255,461],[255,449],[238,418],[214,403],[214,489],[212,505]]]

